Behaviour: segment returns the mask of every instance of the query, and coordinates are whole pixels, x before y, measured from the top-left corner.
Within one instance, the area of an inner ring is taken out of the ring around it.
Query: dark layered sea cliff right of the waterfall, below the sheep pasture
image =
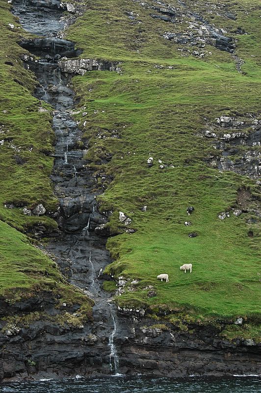
[[[193,333],[188,334],[164,321],[154,326],[150,319],[128,313],[119,314],[115,336],[122,373],[222,376],[254,374],[261,366],[260,346],[253,340],[231,342],[211,326],[191,326]]]

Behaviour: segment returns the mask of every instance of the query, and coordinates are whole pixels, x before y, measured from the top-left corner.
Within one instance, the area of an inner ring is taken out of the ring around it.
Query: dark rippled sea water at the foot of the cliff
[[[261,393],[261,377],[108,377],[0,384],[3,393]]]

